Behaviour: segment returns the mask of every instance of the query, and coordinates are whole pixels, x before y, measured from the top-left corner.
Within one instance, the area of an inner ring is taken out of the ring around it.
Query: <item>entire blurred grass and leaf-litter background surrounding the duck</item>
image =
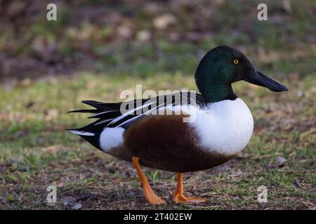
[[[268,21],[257,20],[258,3]],[[84,99],[121,101],[136,84],[196,90],[199,59],[217,45],[242,50],[289,91],[234,84],[254,116],[249,145],[218,169],[186,175],[189,195],[208,203],[160,209],[315,209],[315,1],[0,0],[0,15],[1,209],[152,208],[129,163],[63,131],[89,122],[66,112],[86,108]],[[168,200],[174,175],[145,170]],[[60,194],[53,207],[48,185]],[[261,185],[268,204],[256,202]]]

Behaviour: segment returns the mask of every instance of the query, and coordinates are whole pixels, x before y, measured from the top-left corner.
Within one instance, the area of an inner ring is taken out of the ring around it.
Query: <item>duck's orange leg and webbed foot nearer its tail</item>
[[[143,184],[143,190],[144,190],[144,194],[145,197],[147,199],[147,201],[154,205],[154,204],[165,204],[166,202],[164,200],[162,200],[160,197],[158,197],[154,191],[152,190],[152,188],[150,188],[150,185],[148,183],[147,177],[145,176],[145,174],[142,171],[142,168],[140,167],[139,164],[139,158],[138,157],[133,157],[132,158],[133,161],[133,165],[137,170],[138,176],[140,178],[140,181]]]

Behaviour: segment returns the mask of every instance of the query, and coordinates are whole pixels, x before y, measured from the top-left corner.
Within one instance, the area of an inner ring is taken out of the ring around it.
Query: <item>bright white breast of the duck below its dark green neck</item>
[[[254,120],[242,99],[223,100],[197,110],[195,127],[199,144],[209,151],[235,155],[248,144],[254,130]]]

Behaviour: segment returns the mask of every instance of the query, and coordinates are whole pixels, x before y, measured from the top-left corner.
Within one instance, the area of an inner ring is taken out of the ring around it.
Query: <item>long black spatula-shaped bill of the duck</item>
[[[283,85],[276,80],[265,76],[264,73],[261,73],[257,69],[253,69],[249,74],[244,76],[244,80],[254,85],[267,87],[269,90],[274,92],[282,92],[288,90],[286,85]]]

